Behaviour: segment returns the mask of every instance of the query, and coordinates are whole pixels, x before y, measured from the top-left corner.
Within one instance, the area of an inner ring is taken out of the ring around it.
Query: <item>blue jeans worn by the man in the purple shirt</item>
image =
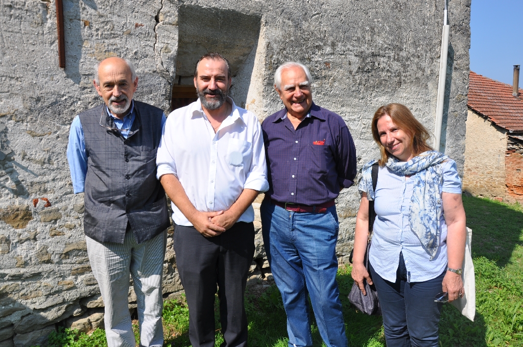
[[[267,258],[287,313],[289,347],[312,346],[307,294],[325,344],[346,347],[336,282],[336,206],[326,213],[289,212],[264,200],[260,214]]]

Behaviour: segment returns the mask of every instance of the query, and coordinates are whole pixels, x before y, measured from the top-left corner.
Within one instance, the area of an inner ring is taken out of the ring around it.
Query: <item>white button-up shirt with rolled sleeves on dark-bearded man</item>
[[[157,178],[175,175],[201,212],[228,210],[244,189],[269,189],[260,123],[252,112],[227,99],[232,112],[216,133],[200,100],[171,112],[156,155]],[[192,226],[174,203],[172,207],[176,224]],[[238,222],[253,221],[249,206]]]

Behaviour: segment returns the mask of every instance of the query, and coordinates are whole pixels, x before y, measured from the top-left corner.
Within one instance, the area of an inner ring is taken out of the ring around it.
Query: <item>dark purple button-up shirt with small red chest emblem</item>
[[[337,198],[356,177],[356,148],[338,114],[314,105],[294,130],[287,109],[261,124],[269,190],[282,203],[315,206]]]

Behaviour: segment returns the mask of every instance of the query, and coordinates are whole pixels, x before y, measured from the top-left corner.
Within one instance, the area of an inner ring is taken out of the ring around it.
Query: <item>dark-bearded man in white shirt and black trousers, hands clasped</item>
[[[221,54],[200,58],[194,83],[199,100],[167,118],[157,177],[173,202],[174,250],[192,346],[214,346],[218,284],[222,346],[246,347],[243,299],[254,256],[251,204],[269,188],[263,135],[256,116],[227,96],[231,70]]]

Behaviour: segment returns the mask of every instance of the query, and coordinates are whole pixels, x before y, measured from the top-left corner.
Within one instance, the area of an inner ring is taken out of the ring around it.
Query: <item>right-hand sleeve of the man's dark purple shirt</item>
[[[356,147],[349,128],[342,126],[336,144],[336,171],[340,187],[349,188],[356,177]]]

